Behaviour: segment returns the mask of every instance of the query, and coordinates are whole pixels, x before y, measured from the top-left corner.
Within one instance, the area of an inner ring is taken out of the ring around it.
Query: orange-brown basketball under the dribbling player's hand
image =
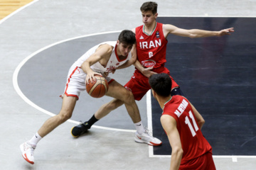
[[[100,75],[95,75],[95,78],[93,81],[89,81],[89,84],[86,84],[86,91],[94,98],[101,98],[107,94],[107,80]]]

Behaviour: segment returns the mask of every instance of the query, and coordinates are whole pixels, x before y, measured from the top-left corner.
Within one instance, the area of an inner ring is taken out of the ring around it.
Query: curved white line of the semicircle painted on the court
[[[26,57],[20,64],[18,64],[18,67],[16,67],[15,71],[14,71],[14,75],[13,75],[13,84],[14,84],[14,89],[16,90],[17,94],[19,96],[21,96],[21,98],[23,99],[23,101],[26,101],[26,103],[28,103],[30,106],[32,106],[33,108],[36,108],[38,111],[41,111],[43,113],[46,113],[47,115],[50,116],[54,116],[54,113],[51,113],[49,111],[46,111],[45,109],[37,106],[35,103],[33,103],[31,100],[29,100],[21,91],[21,89],[18,86],[18,72],[20,71],[21,67],[23,67],[23,65],[32,57],[34,57],[35,55],[37,55],[39,52],[42,52],[43,50],[48,49],[49,47],[53,47],[54,45],[58,45],[60,43],[63,42],[67,42],[69,40],[75,40],[78,38],[85,38],[85,37],[90,37],[93,35],[102,35],[102,34],[108,34],[108,33],[119,33],[121,32],[121,30],[116,30],[116,31],[110,31],[110,32],[104,32],[104,33],[95,33],[95,34],[90,34],[90,35],[82,35],[79,37],[75,37],[75,38],[69,38],[67,40],[61,40],[59,42],[55,42],[51,45],[48,45],[46,47],[41,48],[40,50],[33,52],[31,55],[29,55],[28,57]],[[75,120],[67,120],[70,123],[75,123],[75,124],[80,124],[80,122],[75,121]],[[102,127],[102,126],[97,126],[97,125],[92,125],[92,128],[99,128],[99,129],[104,129],[104,130],[115,130],[115,131],[122,131],[122,132],[136,132],[136,130],[124,130],[124,129],[118,129],[118,128],[107,128],[107,127]]]

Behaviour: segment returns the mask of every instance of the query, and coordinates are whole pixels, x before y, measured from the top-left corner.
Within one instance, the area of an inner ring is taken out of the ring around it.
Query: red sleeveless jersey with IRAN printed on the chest
[[[154,67],[154,69],[164,67],[168,41],[164,38],[163,24],[156,23],[156,28],[151,35],[144,33],[143,30],[144,25],[137,27],[135,30],[137,59],[143,67]]]

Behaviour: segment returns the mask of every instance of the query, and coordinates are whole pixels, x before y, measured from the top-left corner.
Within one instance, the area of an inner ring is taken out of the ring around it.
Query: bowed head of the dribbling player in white
[[[122,30],[117,40],[117,55],[127,56],[135,43],[136,38],[132,30]]]

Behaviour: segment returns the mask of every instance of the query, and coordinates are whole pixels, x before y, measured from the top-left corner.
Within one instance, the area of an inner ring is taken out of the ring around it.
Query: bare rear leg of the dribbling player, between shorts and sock
[[[63,97],[63,104],[58,115],[53,116],[46,120],[46,122],[42,125],[42,127],[38,130],[38,135],[41,137],[45,137],[52,130],[58,127],[58,125],[64,123],[66,120],[71,118],[73,110],[75,108],[75,103],[77,98],[73,96],[65,96]]]

